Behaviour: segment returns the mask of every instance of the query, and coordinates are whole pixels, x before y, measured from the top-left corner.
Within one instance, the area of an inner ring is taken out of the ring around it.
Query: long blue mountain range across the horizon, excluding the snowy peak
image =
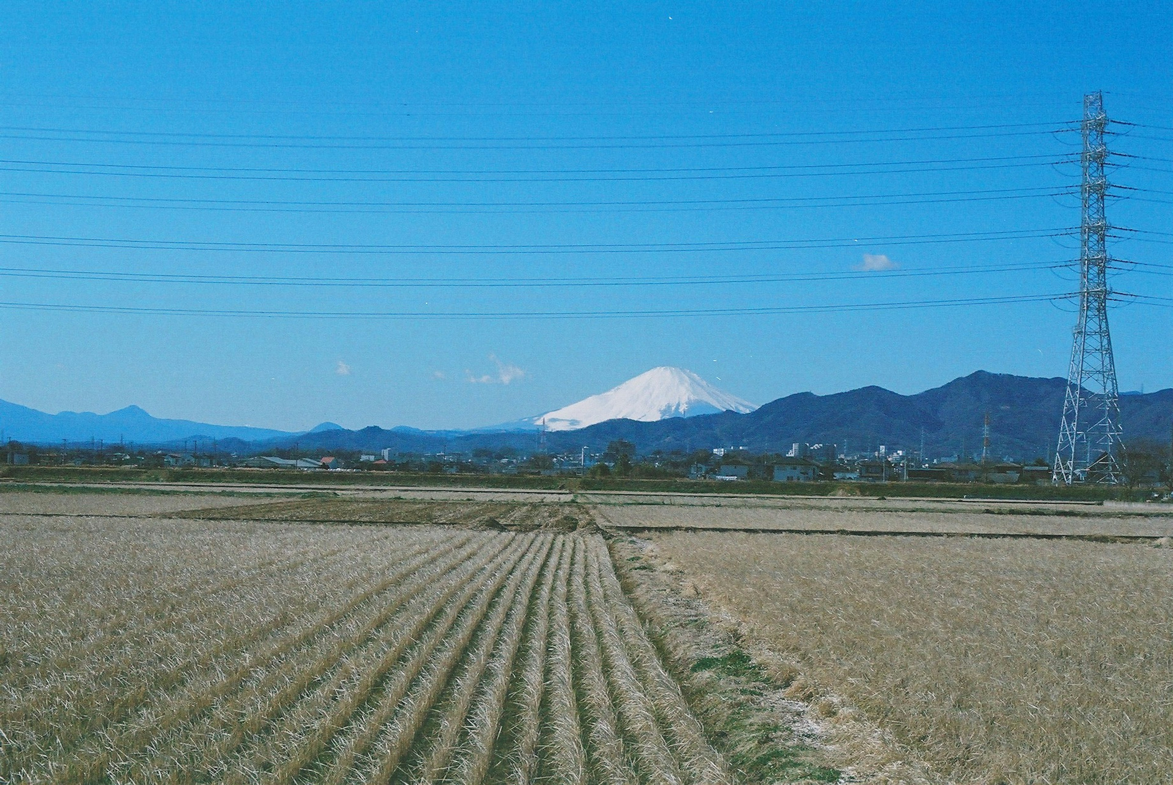
[[[637,377],[638,378],[638,377]],[[669,416],[653,422],[609,419],[577,430],[547,435],[551,451],[599,451],[612,439],[633,442],[640,452],[710,450],[744,446],[755,452],[786,451],[794,442],[835,443],[852,452],[880,444],[920,449],[934,457],[974,455],[982,446],[982,421],[990,412],[991,450],[996,457],[1031,459],[1055,449],[1065,389],[1063,378],[1033,378],[977,371],[916,395],[865,387],[834,395],[799,392],[747,412],[723,411],[691,417]],[[621,385],[622,387],[622,385]],[[619,388],[616,388],[619,389]],[[1120,396],[1128,441],[1145,438],[1168,444],[1173,425],[1173,389]],[[0,402],[0,426],[30,442],[88,441],[176,443],[219,439],[221,450],[256,453],[294,444],[303,450],[393,452],[468,452],[476,448],[537,448],[533,430],[422,431],[378,426],[347,430],[323,423],[312,431],[291,434],[232,428],[181,419],[156,419],[137,407],[109,415],[43,412]]]

